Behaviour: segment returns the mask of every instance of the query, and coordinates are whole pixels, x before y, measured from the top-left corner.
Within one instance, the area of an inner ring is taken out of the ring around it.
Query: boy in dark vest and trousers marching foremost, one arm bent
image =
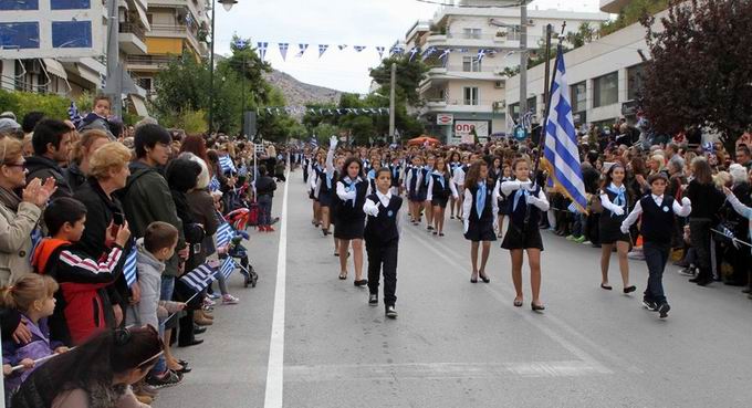
[[[368,253],[368,304],[378,304],[378,282],[384,272],[384,307],[389,318],[397,318],[397,247],[400,234],[403,199],[391,193],[391,171],[376,172],[376,191],[366,198],[363,212],[367,215],[365,240]]]

